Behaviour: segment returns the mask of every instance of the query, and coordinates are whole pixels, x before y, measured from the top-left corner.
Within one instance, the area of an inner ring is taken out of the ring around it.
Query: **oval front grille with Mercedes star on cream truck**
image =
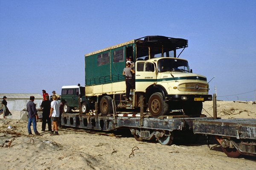
[[[208,92],[209,86],[202,83],[184,83],[178,85],[179,91],[186,91],[186,92]]]

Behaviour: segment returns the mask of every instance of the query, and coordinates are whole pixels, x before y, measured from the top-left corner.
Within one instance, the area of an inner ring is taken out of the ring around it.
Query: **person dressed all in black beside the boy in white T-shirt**
[[[50,110],[51,110],[51,101],[49,101],[49,96],[46,95],[45,99],[42,103],[41,103],[41,108],[43,108],[43,117],[42,117],[42,130],[41,131],[45,131],[46,128],[46,123],[48,124],[48,131],[52,130],[52,122],[51,122],[51,118],[49,118],[50,115]]]

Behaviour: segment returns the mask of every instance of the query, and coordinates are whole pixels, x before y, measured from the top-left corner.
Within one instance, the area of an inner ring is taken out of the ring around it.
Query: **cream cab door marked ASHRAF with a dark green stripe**
[[[157,82],[157,72],[153,62],[135,62],[135,90],[145,92],[145,89]]]

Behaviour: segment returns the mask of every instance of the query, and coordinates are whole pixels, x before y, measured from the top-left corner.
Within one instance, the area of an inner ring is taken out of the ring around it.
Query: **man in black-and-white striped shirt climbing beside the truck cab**
[[[125,84],[126,84],[126,97],[127,101],[129,102],[130,99],[130,91],[131,89],[135,89],[135,80],[133,74],[135,74],[135,71],[130,68],[131,63],[126,63],[126,67],[124,68],[123,75],[125,75]]]

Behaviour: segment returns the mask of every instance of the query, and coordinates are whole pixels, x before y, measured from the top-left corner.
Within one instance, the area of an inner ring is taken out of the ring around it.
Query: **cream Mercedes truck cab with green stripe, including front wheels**
[[[181,110],[198,115],[202,102],[212,100],[207,78],[193,74],[185,59],[160,57],[136,62],[136,92],[148,99],[152,116]]]

